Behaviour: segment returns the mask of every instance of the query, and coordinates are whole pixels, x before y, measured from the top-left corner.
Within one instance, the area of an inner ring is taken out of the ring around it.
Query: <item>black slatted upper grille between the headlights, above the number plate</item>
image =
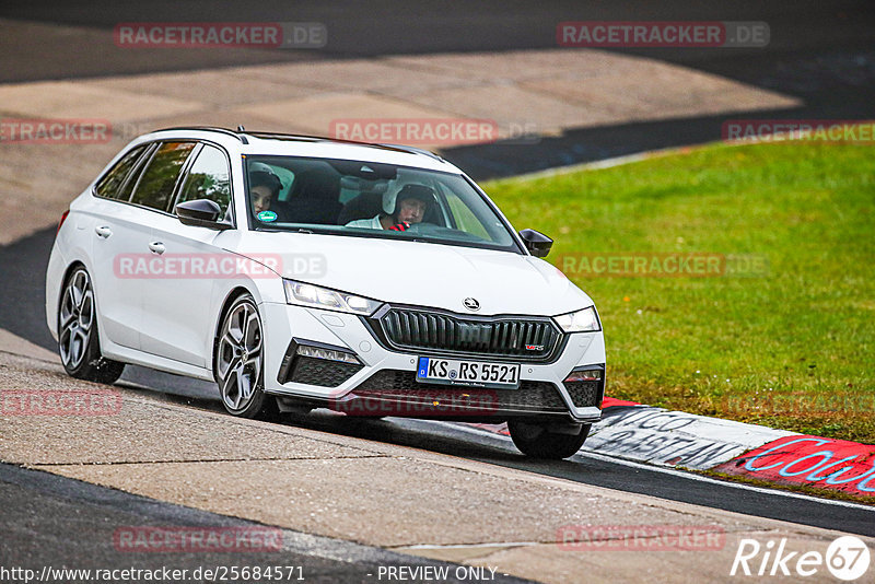
[[[525,362],[549,361],[562,334],[549,318],[476,317],[393,307],[373,327],[397,350],[489,357]]]

